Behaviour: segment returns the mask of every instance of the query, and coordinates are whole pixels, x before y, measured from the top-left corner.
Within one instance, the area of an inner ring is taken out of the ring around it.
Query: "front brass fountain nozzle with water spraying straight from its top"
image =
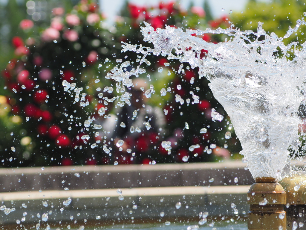
[[[248,191],[248,229],[286,230],[286,192],[283,187],[273,178],[256,178],[256,182]]]

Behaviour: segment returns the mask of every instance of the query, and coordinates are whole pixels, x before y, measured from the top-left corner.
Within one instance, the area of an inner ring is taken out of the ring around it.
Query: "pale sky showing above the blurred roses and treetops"
[[[169,2],[170,0],[163,0],[163,2]],[[270,0],[260,0],[262,2],[270,2]],[[130,0],[140,6],[154,6],[161,0]],[[194,6],[204,5],[204,0],[180,0],[177,1],[185,9],[193,2]],[[243,11],[248,0],[208,0],[208,4],[211,7],[211,13],[214,18],[218,18],[230,13],[230,10],[241,12]],[[107,16],[108,22],[114,21],[116,15],[121,10],[124,0],[99,0],[99,5],[103,10],[103,13]],[[224,8],[224,11],[222,11]]]

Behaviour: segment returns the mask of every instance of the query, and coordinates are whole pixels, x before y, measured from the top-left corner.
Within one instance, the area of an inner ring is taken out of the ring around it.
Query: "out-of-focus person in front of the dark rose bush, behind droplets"
[[[132,80],[131,105],[125,105],[118,114],[114,144],[124,140],[121,148],[115,147],[118,163],[147,163],[156,154],[156,143],[163,135],[165,115],[159,107],[147,105],[144,92],[148,84],[144,79]],[[121,151],[120,151],[121,150]]]

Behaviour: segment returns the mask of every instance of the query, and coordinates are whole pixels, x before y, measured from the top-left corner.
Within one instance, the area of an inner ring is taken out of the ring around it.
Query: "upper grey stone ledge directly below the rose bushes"
[[[156,165],[1,168],[0,192],[251,185],[252,175],[241,161]],[[234,178],[238,182],[234,182]],[[213,179],[212,179],[213,178]],[[20,180],[20,182],[19,182]],[[62,181],[65,181],[62,183]]]

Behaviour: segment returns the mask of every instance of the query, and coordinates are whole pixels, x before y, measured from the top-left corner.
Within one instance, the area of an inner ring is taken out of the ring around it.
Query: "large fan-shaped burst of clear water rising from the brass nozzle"
[[[123,43],[121,52],[141,52],[144,57],[148,53],[161,54],[188,62],[191,68],[199,67],[199,78],[210,81],[215,98],[231,118],[243,148],[241,154],[248,160],[253,177],[272,177],[277,181],[288,162],[288,148],[297,148],[300,122],[297,111],[303,102],[306,76],[305,44],[301,44],[300,50],[296,49],[297,42],[285,45],[282,37],[268,35],[260,22],[256,33],[232,27],[183,32],[166,26],[155,31],[148,23],[144,24],[144,41],[153,43],[154,49],[142,46],[136,49],[137,45]],[[305,21],[298,20],[284,38],[302,24]],[[205,33],[225,34],[230,39],[213,44],[191,36]],[[208,54],[201,59],[203,49]],[[290,50],[294,50],[293,60],[287,58]],[[138,66],[133,71],[140,70]],[[193,98],[198,103],[198,96],[193,94]]]

